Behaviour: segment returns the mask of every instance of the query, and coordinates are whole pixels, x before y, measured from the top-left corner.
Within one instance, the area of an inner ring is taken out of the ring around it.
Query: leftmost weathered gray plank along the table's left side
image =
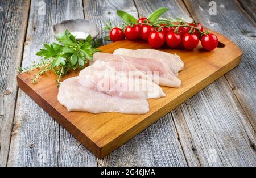
[[[6,166],[30,1],[0,1],[0,167]]]

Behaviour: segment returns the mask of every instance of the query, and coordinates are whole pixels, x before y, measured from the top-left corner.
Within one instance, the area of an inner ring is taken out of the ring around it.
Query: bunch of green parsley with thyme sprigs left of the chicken
[[[19,73],[40,69],[38,74],[31,79],[36,83],[40,75],[47,71],[54,71],[57,75],[57,83],[60,85],[61,78],[68,73],[69,69],[82,69],[88,60],[93,60],[93,54],[99,50],[94,48],[96,41],[89,35],[85,40],[76,40],[67,29],[65,33],[56,35],[58,43],[44,44],[37,56],[43,57],[39,63],[33,61],[31,67],[19,68]]]

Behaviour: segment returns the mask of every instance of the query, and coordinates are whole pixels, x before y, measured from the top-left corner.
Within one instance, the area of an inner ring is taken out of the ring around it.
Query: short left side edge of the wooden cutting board
[[[17,75],[18,87],[22,89],[32,100],[44,109],[51,117],[53,117],[61,126],[63,126],[69,133],[71,133],[79,142],[81,142],[88,150],[90,150],[98,158],[100,157],[100,147],[92,142],[84,133],[81,132],[75,125],[69,122],[61,113],[57,112],[46,100],[36,93],[28,84]],[[44,104],[45,103],[45,104]]]

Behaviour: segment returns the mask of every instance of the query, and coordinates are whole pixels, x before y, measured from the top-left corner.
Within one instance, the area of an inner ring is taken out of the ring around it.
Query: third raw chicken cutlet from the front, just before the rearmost
[[[110,53],[95,53],[93,61],[90,63],[92,64],[95,61],[128,62],[144,74],[149,75],[156,84],[174,88],[181,86],[180,79],[176,77],[170,69],[170,65],[164,60],[119,56]]]

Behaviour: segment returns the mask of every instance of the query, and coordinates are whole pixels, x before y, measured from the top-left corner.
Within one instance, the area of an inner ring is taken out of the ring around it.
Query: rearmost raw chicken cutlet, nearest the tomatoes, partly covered
[[[178,75],[179,71],[184,69],[184,63],[183,61],[181,61],[179,56],[177,56],[176,54],[162,52],[160,50],[155,50],[155,49],[133,50],[133,49],[119,48],[119,49],[115,49],[113,54],[121,55],[121,56],[129,56],[129,57],[148,58],[149,60],[151,60],[151,58],[154,58],[159,61],[164,61],[168,63],[168,66],[176,76]]]

